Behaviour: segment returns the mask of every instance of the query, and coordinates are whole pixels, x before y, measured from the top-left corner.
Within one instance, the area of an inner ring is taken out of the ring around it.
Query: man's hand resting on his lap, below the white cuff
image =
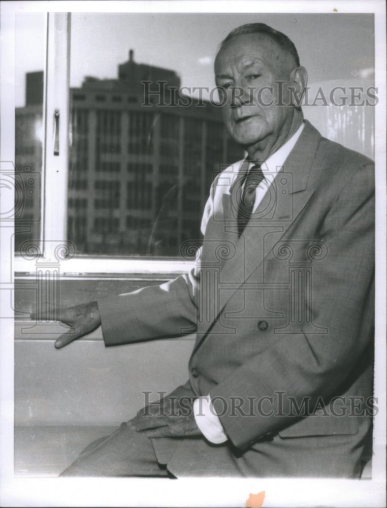
[[[136,416],[126,423],[146,437],[201,436],[193,411],[188,416]]]

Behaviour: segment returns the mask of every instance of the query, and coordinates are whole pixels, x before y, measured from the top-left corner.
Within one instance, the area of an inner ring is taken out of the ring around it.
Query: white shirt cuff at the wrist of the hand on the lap
[[[211,443],[220,444],[227,441],[228,437],[223,431],[209,395],[195,399],[193,402],[193,415],[195,415],[199,430]]]

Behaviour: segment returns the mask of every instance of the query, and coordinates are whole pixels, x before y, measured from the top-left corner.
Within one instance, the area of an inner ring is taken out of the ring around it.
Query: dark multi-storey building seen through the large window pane
[[[71,90],[69,239],[88,253],[179,256],[200,238],[211,182],[243,156],[220,108],[180,96],[173,72],[130,59]]]

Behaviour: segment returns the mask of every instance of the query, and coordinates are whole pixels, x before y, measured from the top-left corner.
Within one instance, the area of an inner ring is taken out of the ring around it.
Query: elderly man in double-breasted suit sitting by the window
[[[189,380],[62,475],[360,474],[372,415],[372,162],[320,136],[285,35],[243,25],[215,60],[224,122],[248,153],[215,179],[196,268],[61,310],[107,346],[197,333]]]

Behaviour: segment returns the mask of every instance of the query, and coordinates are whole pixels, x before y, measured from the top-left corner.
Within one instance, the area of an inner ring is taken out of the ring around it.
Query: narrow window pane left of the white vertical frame
[[[40,240],[45,14],[16,14],[15,33],[15,251],[23,252]]]

